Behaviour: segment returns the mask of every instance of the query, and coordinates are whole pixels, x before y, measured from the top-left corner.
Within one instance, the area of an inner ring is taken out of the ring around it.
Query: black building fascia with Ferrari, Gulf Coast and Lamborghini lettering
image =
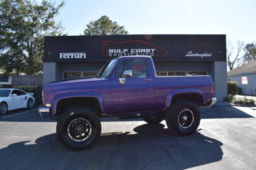
[[[44,37],[44,62],[101,62],[129,55],[155,62],[226,61],[226,35],[92,35]]]

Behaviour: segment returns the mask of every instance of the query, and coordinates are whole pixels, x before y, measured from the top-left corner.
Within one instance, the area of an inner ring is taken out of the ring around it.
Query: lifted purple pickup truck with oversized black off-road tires
[[[166,120],[177,135],[190,135],[200,123],[200,105],[213,105],[210,76],[157,77],[149,56],[108,61],[95,77],[49,83],[43,88],[43,118],[57,120],[65,147],[84,150],[100,137],[100,117],[142,118],[150,124]]]

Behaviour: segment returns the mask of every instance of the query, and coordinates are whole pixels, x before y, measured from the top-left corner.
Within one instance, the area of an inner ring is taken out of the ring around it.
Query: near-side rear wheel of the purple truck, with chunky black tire
[[[169,129],[180,136],[188,136],[196,131],[200,124],[200,111],[189,100],[176,101],[167,109],[166,124]]]

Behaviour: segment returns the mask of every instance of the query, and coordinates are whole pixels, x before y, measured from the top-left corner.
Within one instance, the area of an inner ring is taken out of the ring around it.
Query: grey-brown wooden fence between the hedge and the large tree
[[[12,86],[43,86],[43,75],[12,75]]]

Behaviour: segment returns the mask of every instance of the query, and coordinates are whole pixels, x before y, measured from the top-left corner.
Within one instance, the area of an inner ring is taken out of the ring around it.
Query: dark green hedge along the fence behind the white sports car
[[[36,99],[35,104],[42,103],[42,87],[41,86],[13,86],[12,88],[20,89],[28,93],[34,93],[34,98]]]

